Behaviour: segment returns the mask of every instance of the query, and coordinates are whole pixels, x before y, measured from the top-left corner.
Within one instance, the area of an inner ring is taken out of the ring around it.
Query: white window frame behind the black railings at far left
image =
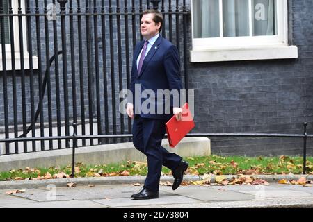
[[[22,14],[26,14],[25,1],[21,1]],[[13,15],[18,14],[18,0],[12,0]],[[10,22],[10,21],[9,21]],[[30,69],[29,67],[29,49],[27,44],[27,33],[26,33],[26,16],[22,16],[22,27],[23,27],[23,49],[24,49],[24,69]],[[10,25],[9,25],[10,28]],[[9,35],[10,36],[10,35]],[[10,36],[11,37],[11,36]],[[15,70],[21,70],[21,51],[19,44],[19,18],[13,16],[13,40],[10,38],[10,42],[14,42],[14,56],[15,56]],[[0,60],[2,60],[2,47],[0,43]],[[33,69],[38,69],[38,57],[33,56]],[[12,53],[11,44],[6,44],[6,70],[13,70],[12,67]],[[3,62],[0,62],[0,71],[3,71]]]

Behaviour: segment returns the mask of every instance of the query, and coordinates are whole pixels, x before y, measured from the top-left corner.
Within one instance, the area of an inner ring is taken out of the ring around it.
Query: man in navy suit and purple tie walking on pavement
[[[168,119],[175,114],[176,119],[180,121],[182,115],[177,96],[170,101],[163,99],[163,96],[157,98],[158,90],[179,92],[182,89],[179,54],[177,48],[159,34],[162,24],[163,17],[159,11],[143,12],[141,35],[144,40],[135,46],[131,70],[130,90],[133,98],[138,98],[138,94],[141,98],[141,92],[145,90],[150,96],[150,103],[146,107],[144,104],[147,103],[143,98],[130,99],[127,103],[127,114],[134,119],[134,146],[147,156],[148,172],[145,185],[138,194],[131,196],[138,200],[159,197],[162,165],[172,170],[175,179],[172,185],[174,190],[182,183],[184,171],[188,168],[188,163],[182,160],[182,157],[168,152],[161,146]],[[161,113],[157,112],[160,111],[160,105]]]

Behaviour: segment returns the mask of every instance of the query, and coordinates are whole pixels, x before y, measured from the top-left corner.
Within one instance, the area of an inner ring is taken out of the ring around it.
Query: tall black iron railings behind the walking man
[[[131,52],[142,39],[139,24],[147,8],[161,6],[165,18],[161,35],[177,45],[188,80],[183,21],[190,11],[185,0],[6,3],[0,2],[0,25],[8,22],[9,28],[1,28],[0,44],[10,37],[11,50],[1,44],[4,110],[0,126],[7,140],[0,155],[70,148],[71,122],[77,123],[79,135],[107,135],[97,140],[81,137],[79,146],[125,142],[125,137],[114,136],[131,134],[131,120],[118,112],[119,92],[129,85]],[[45,140],[38,144],[29,137],[51,139],[49,144]]]

